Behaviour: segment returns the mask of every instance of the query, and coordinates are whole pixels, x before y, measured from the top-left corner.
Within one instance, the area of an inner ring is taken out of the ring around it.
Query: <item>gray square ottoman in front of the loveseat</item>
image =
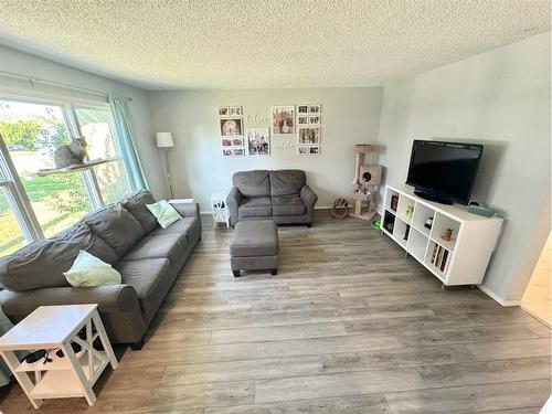
[[[235,277],[240,270],[278,273],[278,229],[273,221],[238,222],[230,242],[230,264]]]

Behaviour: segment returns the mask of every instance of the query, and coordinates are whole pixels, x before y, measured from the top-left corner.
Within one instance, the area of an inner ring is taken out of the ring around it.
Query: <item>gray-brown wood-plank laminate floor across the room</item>
[[[117,347],[88,407],[42,413],[538,413],[550,330],[478,289],[440,283],[370,223],[318,211],[279,229],[277,276],[235,279],[230,231],[203,238],[141,351]],[[0,408],[33,412],[19,385]]]

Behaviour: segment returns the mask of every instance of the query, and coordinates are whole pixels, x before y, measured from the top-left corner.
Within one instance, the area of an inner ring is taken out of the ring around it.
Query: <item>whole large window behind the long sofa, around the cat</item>
[[[127,167],[107,105],[0,98],[0,256],[52,236],[87,212],[130,191]],[[88,160],[108,162],[78,172],[53,169],[56,148],[83,137]]]

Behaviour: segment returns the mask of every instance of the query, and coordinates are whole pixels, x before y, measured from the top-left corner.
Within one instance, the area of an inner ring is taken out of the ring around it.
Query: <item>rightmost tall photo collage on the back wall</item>
[[[297,153],[318,156],[321,139],[321,105],[297,105]]]

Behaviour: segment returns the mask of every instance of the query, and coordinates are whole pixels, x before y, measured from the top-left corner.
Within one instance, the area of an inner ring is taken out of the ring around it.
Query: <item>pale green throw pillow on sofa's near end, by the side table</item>
[[[81,251],[73,266],[63,274],[71,286],[94,287],[119,285],[120,273],[88,252]]]

